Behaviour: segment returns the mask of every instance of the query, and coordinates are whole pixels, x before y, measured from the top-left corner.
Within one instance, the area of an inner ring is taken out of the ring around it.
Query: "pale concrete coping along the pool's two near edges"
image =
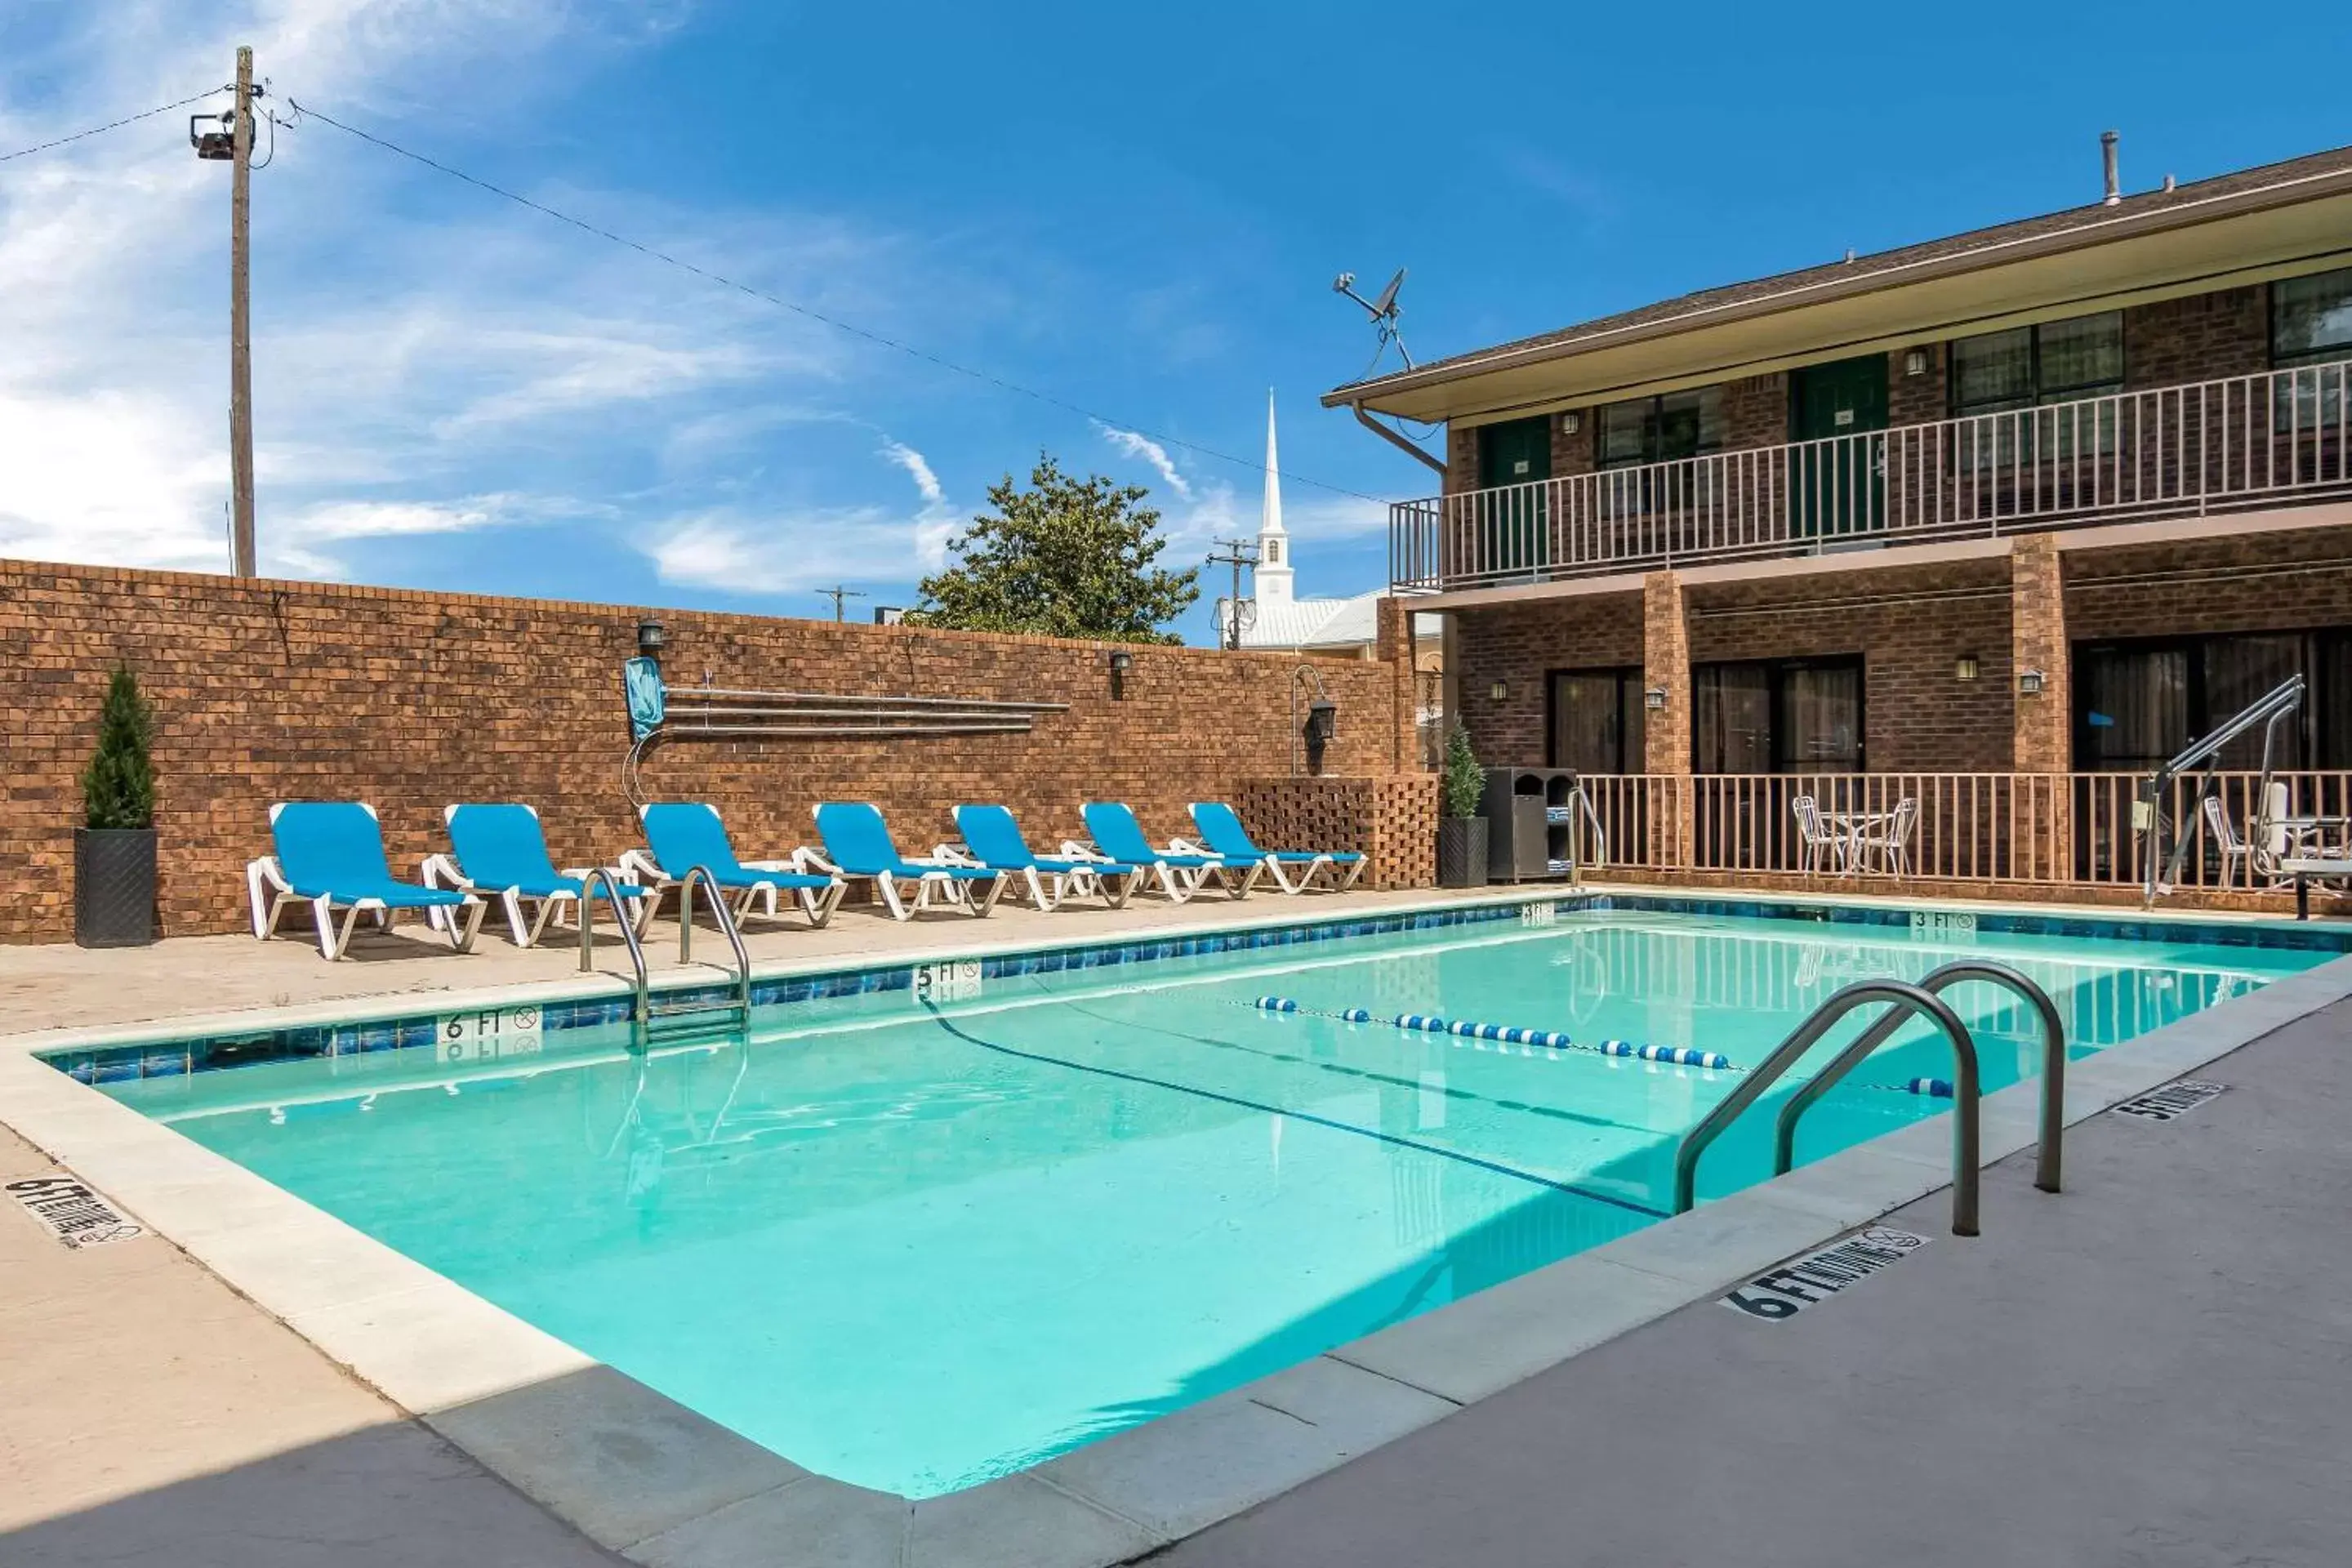
[[[1552,898],[1538,893],[1534,900]],[[1496,912],[1486,917],[1505,919],[1522,903],[1529,900],[1496,900]],[[1698,905],[1693,912],[1729,912],[1726,905],[1757,912],[1785,907],[1785,900],[1689,903]],[[1642,898],[1609,907],[1656,905]],[[1900,914],[1907,917],[1907,907]],[[2201,940],[2178,933],[2213,922],[2164,924],[2173,940]],[[1155,943],[1115,947],[1150,945]],[[2112,1046],[2096,1063],[2079,1065],[2070,1079],[2067,1124],[2194,1072],[2347,997],[2352,959],[2338,959]],[[360,1051],[367,1046],[360,1044]],[[804,1474],[786,1458],[776,1458],[762,1474],[757,1460],[746,1465],[743,1439],[731,1432],[581,1356],[242,1166],[186,1143],[129,1105],[89,1093],[40,1060],[52,1053],[52,1039],[0,1041],[0,1121],[108,1190],[134,1215],[155,1222],[167,1239],[306,1333],[395,1406],[442,1429],[557,1516],[649,1568],[739,1563],[746,1535],[729,1528],[739,1521],[760,1540],[762,1552],[781,1552],[767,1561],[811,1561],[800,1552],[811,1542],[786,1544],[757,1528],[762,1521],[800,1519],[842,1523],[840,1530],[828,1528],[828,1542],[818,1547],[823,1561],[842,1568],[898,1568],[908,1561],[1105,1568],[1131,1561],[1442,1420],[1472,1399],[1703,1302],[1755,1267],[1811,1251],[1858,1220],[1900,1208],[1924,1185],[1943,1185],[1933,1166],[1950,1157],[1950,1133],[1940,1119],[1910,1124],[1806,1166],[1797,1173],[1802,1182],[1790,1178],[1788,1187],[1750,1187],[1030,1472],[948,1497],[906,1502]],[[146,1056],[139,1063],[143,1067]],[[1985,1098],[1985,1164],[2034,1143],[2034,1105],[2032,1081]],[[247,1244],[242,1253],[226,1244],[228,1237]],[[256,1251],[256,1241],[268,1246]],[[374,1284],[355,1284],[353,1300],[320,1305],[320,1274],[365,1279],[369,1267],[376,1269]],[[383,1276],[386,1269],[393,1279]],[[1635,1281],[1639,1288],[1630,1291]],[[301,1305],[294,1305],[296,1286],[313,1291]],[[1503,1291],[1515,1291],[1529,1309],[1512,1312],[1510,1302],[1489,1302]],[[1557,1312],[1541,1305],[1573,1302],[1578,1291],[1585,1300],[1597,1293],[1606,1309],[1595,1321],[1576,1324],[1573,1333],[1562,1333]],[[470,1352],[459,1366],[435,1354],[435,1342],[452,1328],[463,1333]],[[576,1434],[532,1443],[527,1415],[546,1406],[548,1389],[557,1382],[567,1385],[569,1422],[595,1432],[600,1441],[656,1443],[659,1476],[741,1479],[687,1502],[691,1516],[680,1519],[675,1488],[628,1467],[616,1474],[612,1465],[583,1458]],[[468,1434],[475,1434],[477,1446],[466,1443]],[[1237,1458],[1247,1462],[1237,1465]],[[774,1479],[776,1486],[760,1490],[762,1479]],[[649,1535],[637,1535],[649,1526]]]

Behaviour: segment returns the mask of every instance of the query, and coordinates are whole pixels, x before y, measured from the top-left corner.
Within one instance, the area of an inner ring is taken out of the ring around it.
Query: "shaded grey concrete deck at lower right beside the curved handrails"
[[[1155,1559],[1218,1568],[2343,1568],[2352,1004],[1985,1173],[1933,1241],[1759,1321],[1708,1300]]]

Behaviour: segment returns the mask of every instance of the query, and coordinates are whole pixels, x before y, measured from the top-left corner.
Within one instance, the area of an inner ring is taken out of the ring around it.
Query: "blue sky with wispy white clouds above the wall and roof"
[[[1750,19],[1755,16],[1755,19]],[[2211,9],[14,0],[0,150],[226,80],[1112,421],[560,228],[325,125],[256,176],[263,569],[619,604],[903,604],[1040,449],[1152,487],[1171,564],[1258,475],[1414,496],[1315,404],[1329,292],[1421,357],[2352,141],[2345,28]],[[2032,47],[2013,40],[2030,38]],[[2194,38],[2194,47],[2183,40]],[[1955,47],[1957,45],[1957,47]],[[0,165],[0,552],[221,569],[226,172],[160,118]],[[1287,482],[1301,592],[1383,512]],[[1211,588],[1214,592],[1214,588]],[[1207,639],[1207,604],[1183,628]]]

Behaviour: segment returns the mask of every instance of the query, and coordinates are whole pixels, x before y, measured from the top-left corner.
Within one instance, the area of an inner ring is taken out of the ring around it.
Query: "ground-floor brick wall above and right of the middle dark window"
[[[1691,665],[1860,654],[1872,773],[2006,771],[2006,567],[1945,562],[1691,588]],[[1952,675],[1962,654],[1978,661],[1973,682]]]

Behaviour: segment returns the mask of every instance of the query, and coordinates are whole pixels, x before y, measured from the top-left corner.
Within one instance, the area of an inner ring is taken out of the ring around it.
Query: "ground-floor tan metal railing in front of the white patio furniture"
[[[2216,776],[2227,839],[2199,809],[2197,780],[2171,780],[2164,806],[2187,842],[2180,889],[2251,893],[2277,882],[2267,856],[2284,827],[2258,820],[2260,780],[2260,773]],[[2281,771],[2272,780],[2286,785],[2291,820],[2340,823],[2352,813],[2352,773]],[[1597,877],[1651,870],[1856,889],[1893,879],[2112,891],[2136,891],[2147,875],[2133,827],[2140,783],[2140,773],[1585,773],[1583,780],[1609,844]],[[1865,823],[1867,846],[1849,853],[1825,844],[1823,827],[1809,835],[1799,797],[1825,813],[1832,837],[1844,823]],[[1898,816],[1905,818],[1900,853],[1891,853],[1889,825]]]

